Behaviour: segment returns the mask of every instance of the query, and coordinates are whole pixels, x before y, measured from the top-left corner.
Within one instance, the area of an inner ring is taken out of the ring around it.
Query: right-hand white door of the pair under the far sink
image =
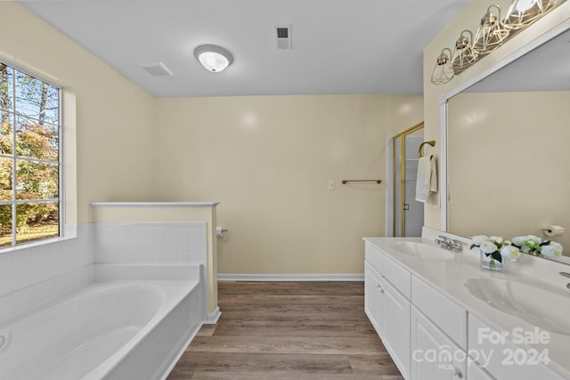
[[[380,325],[382,343],[404,378],[410,371],[410,301],[387,279],[380,281]]]

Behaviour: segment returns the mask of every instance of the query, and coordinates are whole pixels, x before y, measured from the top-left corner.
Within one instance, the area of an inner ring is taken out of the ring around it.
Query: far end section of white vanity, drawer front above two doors
[[[372,247],[367,246],[366,256],[364,310],[396,367],[404,378],[409,378],[411,309],[403,292],[410,296],[410,273]]]

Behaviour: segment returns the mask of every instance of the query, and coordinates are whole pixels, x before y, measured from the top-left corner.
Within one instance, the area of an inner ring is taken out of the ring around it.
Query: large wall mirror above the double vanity
[[[532,234],[570,255],[568,165],[566,30],[448,99],[447,230],[504,239]],[[547,237],[550,225],[566,233]]]

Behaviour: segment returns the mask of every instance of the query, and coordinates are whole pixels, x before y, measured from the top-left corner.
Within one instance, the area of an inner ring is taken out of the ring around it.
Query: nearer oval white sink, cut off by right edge
[[[535,327],[570,335],[570,293],[566,290],[505,279],[468,279],[465,286],[497,310]]]

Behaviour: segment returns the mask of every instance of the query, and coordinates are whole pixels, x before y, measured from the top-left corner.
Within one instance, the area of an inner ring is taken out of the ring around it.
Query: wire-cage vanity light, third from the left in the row
[[[481,19],[473,41],[473,50],[477,57],[481,58],[501,46],[507,37],[509,37],[509,28],[501,20],[501,7],[498,4],[492,4]]]

